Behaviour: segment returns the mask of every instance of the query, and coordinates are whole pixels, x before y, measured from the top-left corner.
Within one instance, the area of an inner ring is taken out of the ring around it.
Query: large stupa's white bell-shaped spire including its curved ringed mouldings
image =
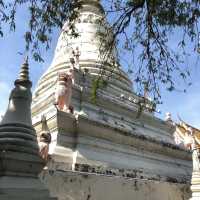
[[[79,0],[78,17],[73,22],[78,37],[73,37],[69,21],[66,21],[58,39],[55,55],[51,66],[38,82],[35,95],[49,88],[55,82],[58,72],[70,69],[72,50],[79,49],[79,71],[86,70],[89,76],[97,78],[103,71],[103,78],[108,80],[112,88],[132,92],[132,82],[128,75],[120,68],[117,60],[116,49],[111,47],[113,32],[106,20],[105,11],[99,0]],[[120,95],[121,91],[113,95]]]

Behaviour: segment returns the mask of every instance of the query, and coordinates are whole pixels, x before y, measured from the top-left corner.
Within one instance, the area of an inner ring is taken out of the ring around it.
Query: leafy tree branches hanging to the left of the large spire
[[[43,61],[41,44],[48,49],[53,30],[61,29],[64,22],[68,21],[72,34],[76,35],[73,21],[77,18],[76,10],[80,6],[77,0],[0,0],[0,36],[3,37],[3,24],[8,24],[10,30],[15,31],[16,13],[20,6],[29,13],[29,28],[24,34],[25,47],[32,51],[36,61]]]

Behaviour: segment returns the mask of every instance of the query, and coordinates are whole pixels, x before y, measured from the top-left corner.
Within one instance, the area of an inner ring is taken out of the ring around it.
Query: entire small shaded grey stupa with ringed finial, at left
[[[0,199],[54,200],[38,178],[44,167],[31,120],[31,81],[28,61],[9,98],[0,123]]]

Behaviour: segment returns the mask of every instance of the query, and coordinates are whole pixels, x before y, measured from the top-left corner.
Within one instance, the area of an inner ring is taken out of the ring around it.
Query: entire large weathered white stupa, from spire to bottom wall
[[[148,109],[138,118],[141,97],[119,66],[115,49],[108,57],[102,51],[112,38],[104,10],[98,0],[81,3],[75,23],[79,36],[70,35],[66,22],[52,64],[34,92],[34,127],[40,134],[45,115],[52,135],[51,160],[42,179],[60,200],[186,199],[191,154],[174,144],[173,125]],[[53,103],[57,75],[68,71],[76,47],[81,53],[70,114]],[[97,90],[94,103],[92,88],[102,69],[107,84]]]

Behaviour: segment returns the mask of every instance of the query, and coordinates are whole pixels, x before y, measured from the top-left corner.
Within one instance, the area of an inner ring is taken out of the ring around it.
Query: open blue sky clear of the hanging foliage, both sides
[[[10,90],[13,88],[13,82],[18,75],[20,65],[23,62],[23,56],[18,52],[23,52],[24,39],[23,33],[26,29],[26,13],[21,10],[17,17],[17,29],[15,33],[7,33],[0,38],[0,114],[5,112],[8,104]],[[50,66],[53,59],[54,49],[56,47],[58,32],[55,31],[53,41],[49,51],[43,51],[44,63],[37,63],[30,60],[30,76],[33,81],[33,88],[42,73]],[[170,43],[172,48],[174,43]],[[192,86],[187,93],[180,91],[167,92],[162,90],[163,104],[159,106],[161,114],[157,114],[159,118],[164,118],[166,112],[171,112],[173,119],[177,119],[177,115],[193,126],[200,128],[200,69],[196,63],[197,54],[191,50],[191,55],[185,58],[185,62],[191,66]],[[182,87],[182,83],[178,85]]]

